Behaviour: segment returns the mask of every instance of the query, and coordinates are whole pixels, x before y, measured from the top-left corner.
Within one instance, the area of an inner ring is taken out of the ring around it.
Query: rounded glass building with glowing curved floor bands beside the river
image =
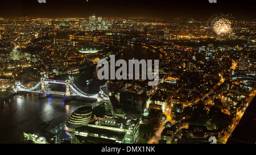
[[[83,106],[77,108],[71,116],[68,118],[67,127],[68,128],[77,128],[83,125],[86,125],[90,122],[92,118],[92,107],[91,106]]]

